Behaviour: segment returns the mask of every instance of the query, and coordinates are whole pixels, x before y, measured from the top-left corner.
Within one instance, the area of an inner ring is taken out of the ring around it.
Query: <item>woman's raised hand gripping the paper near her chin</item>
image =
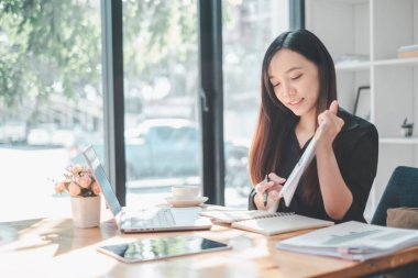
[[[331,102],[330,109],[323,111],[318,115],[318,123],[326,122],[326,126],[322,131],[321,137],[317,143],[316,149],[319,148],[332,148],[332,142],[340,133],[344,121],[337,115],[338,112],[338,101]]]

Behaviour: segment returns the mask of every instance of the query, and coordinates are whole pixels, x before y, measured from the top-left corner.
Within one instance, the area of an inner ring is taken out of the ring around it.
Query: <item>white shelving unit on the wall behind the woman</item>
[[[305,2],[306,27],[320,37],[336,62],[341,105],[352,110],[358,88],[371,87],[363,104],[370,107],[378,133],[385,134],[380,138],[377,174],[366,208],[373,212],[395,167],[418,167],[418,132],[403,137],[399,129],[405,118],[418,123],[418,57],[397,57],[399,46],[418,44],[418,0]],[[348,54],[353,54],[352,60]],[[355,54],[370,58],[355,60]]]

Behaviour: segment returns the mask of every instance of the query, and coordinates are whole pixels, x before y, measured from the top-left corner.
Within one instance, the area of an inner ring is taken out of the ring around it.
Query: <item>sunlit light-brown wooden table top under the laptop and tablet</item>
[[[230,242],[234,248],[142,264],[123,264],[96,251],[103,243],[178,234]],[[418,260],[418,247],[367,262],[276,249],[277,241],[295,234],[263,236],[222,225],[199,232],[121,234],[113,220],[96,229],[75,229],[70,219],[0,223],[0,277],[358,277]]]

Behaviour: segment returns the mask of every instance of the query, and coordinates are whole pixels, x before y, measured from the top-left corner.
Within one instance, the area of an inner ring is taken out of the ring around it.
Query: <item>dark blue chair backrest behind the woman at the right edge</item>
[[[418,168],[396,167],[371,223],[385,226],[387,209],[399,207],[418,208]]]

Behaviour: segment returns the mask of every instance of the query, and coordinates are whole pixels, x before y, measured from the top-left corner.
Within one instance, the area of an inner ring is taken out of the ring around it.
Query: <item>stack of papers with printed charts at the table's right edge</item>
[[[277,248],[353,260],[418,246],[418,231],[350,221],[277,243]]]

